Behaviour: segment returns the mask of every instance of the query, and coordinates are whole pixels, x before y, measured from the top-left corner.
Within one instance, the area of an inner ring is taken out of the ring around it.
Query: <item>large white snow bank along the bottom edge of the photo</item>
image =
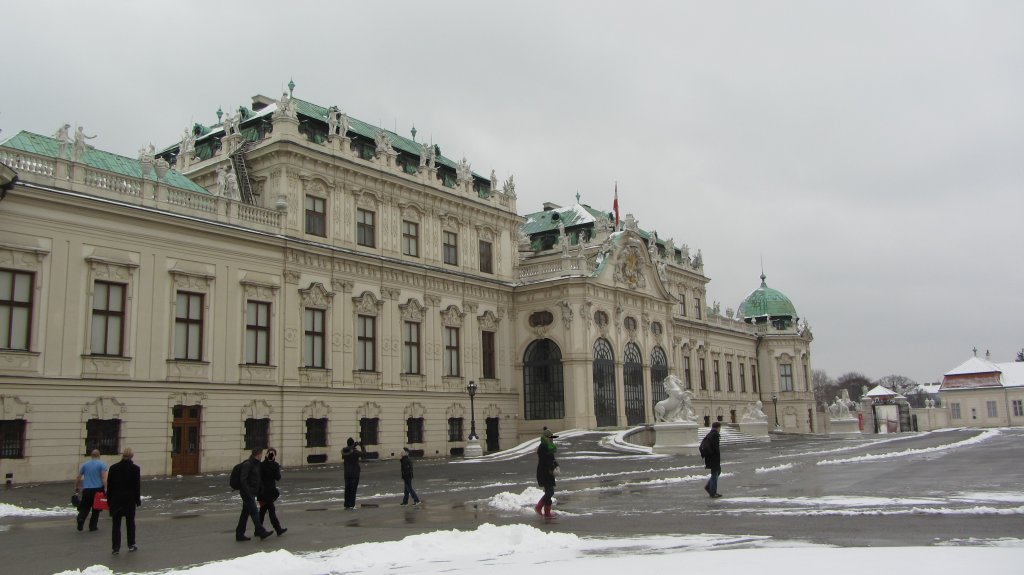
[[[144,551],[140,551],[144,552]],[[586,538],[547,533],[526,525],[481,525],[473,531],[435,531],[400,541],[361,543],[295,555],[258,552],[191,568],[162,571],[187,575],[318,575],[323,573],[521,575],[549,571],[560,575],[620,575],[730,571],[761,575],[861,575],[864,565],[893,572],[959,575],[979,565],[1012,573],[1024,561],[1024,545],[1014,539],[977,540],[955,546],[831,547],[764,536],[681,535]],[[112,565],[117,565],[116,561]],[[1014,566],[1017,567],[1014,567]],[[111,575],[95,565],[61,575]]]

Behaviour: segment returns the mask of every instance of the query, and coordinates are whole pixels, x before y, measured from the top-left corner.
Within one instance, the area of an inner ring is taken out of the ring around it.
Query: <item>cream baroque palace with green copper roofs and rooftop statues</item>
[[[652,423],[670,373],[705,426],[762,401],[815,431],[810,329],[763,275],[723,315],[700,252],[632,215],[520,216],[511,177],[291,91],[137,159],[68,125],[0,142],[8,479],[68,479],[93,447],[150,475],[270,445],[333,463],[348,437],[461,455],[471,418],[496,451]]]

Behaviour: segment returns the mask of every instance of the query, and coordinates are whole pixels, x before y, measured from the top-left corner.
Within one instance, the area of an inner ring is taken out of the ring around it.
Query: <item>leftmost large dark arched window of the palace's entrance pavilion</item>
[[[562,352],[551,340],[538,340],[522,359],[523,413],[526,419],[561,419],[565,416]]]

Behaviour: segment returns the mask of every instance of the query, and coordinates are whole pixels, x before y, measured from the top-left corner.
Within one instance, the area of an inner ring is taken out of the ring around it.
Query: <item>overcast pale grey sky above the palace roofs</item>
[[[295,95],[611,209],[759,284],[814,367],[937,381],[1024,347],[1024,2],[90,1],[4,5],[2,137],[134,157]]]

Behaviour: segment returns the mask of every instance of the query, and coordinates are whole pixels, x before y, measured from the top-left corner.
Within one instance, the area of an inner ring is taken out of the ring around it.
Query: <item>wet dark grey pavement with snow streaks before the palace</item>
[[[3,565],[14,573],[96,564],[117,572],[155,571],[258,550],[315,551],[483,523],[525,523],[587,536],[717,533],[858,546],[1024,537],[1024,429],[858,439],[779,436],[770,444],[726,445],[721,499],[701,489],[707,474],[698,457],[617,453],[599,444],[606,435],[558,440],[562,476],[554,520],[539,518],[529,506],[490,503],[503,492],[525,501],[523,492],[536,489],[531,450],[472,461],[417,460],[421,507],[398,505],[397,460],[364,463],[355,511],[343,510],[340,467],[286,469],[278,508],[289,531],[265,541],[234,541],[240,504],[226,474],[146,478],[138,552],[110,555],[108,517],[93,533],[76,531],[70,513],[6,517],[0,518]],[[67,504],[70,486],[15,486],[0,491],[0,503],[51,508]]]

